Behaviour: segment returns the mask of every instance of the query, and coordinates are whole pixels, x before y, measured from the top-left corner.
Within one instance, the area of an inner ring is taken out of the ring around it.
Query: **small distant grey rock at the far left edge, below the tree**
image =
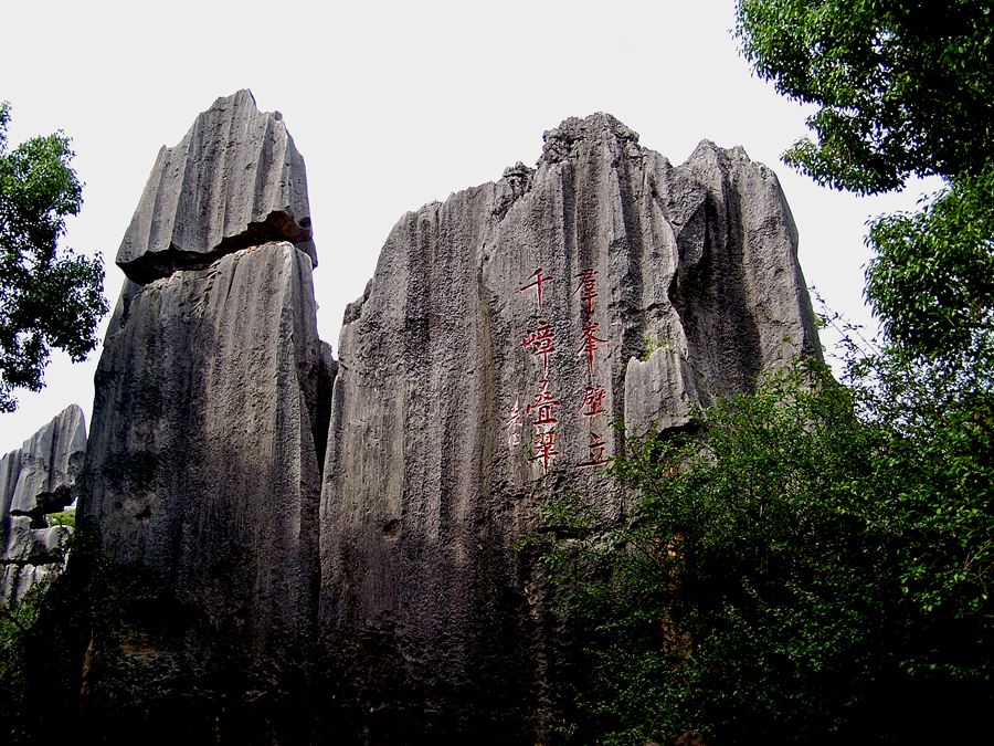
[[[85,452],[83,410],[73,404],[0,459],[0,605],[62,570],[73,529],[49,526],[45,515],[76,498]]]

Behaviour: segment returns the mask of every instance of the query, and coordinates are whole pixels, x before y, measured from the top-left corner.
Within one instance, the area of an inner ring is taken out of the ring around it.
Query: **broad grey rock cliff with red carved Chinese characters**
[[[320,634],[371,743],[532,743],[567,674],[512,546],[625,433],[817,354],[780,186],[609,115],[536,169],[405,214],[346,312],[321,497]],[[406,734],[406,735],[405,735]]]

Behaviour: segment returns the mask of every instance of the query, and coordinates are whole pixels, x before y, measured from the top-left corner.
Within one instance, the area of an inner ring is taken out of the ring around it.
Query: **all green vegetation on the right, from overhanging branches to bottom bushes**
[[[994,706],[994,10],[742,0],[745,57],[818,111],[785,160],[859,193],[884,337],[631,439],[624,518],[551,505],[583,634],[578,743],[919,743]],[[837,324],[835,318],[823,318]]]

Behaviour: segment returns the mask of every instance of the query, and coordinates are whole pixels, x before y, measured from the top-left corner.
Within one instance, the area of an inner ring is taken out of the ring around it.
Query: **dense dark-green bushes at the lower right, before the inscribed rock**
[[[888,743],[983,722],[991,378],[939,380],[918,406],[935,375],[864,358],[854,376],[870,371],[843,386],[805,365],[631,445],[621,522],[550,506],[542,564],[593,672],[579,743]]]

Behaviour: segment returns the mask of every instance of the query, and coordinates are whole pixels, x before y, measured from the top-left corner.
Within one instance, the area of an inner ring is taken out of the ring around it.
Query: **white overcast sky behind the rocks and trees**
[[[858,322],[869,321],[864,223],[921,191],[859,199],[780,162],[805,109],[751,75],[733,0],[20,0],[0,18],[11,146],[55,129],[72,138],[85,202],[65,243],[103,254],[112,307],[114,258],[159,147],[239,88],[282,112],[307,164],[318,326],[336,353],[345,305],[393,223],[533,165],[542,133],[568,116],[610,112],[674,162],[702,138],[744,146],[780,176],[808,284]],[[0,414],[0,453],[70,403],[88,422],[99,351],[78,365],[53,356],[46,389]]]

